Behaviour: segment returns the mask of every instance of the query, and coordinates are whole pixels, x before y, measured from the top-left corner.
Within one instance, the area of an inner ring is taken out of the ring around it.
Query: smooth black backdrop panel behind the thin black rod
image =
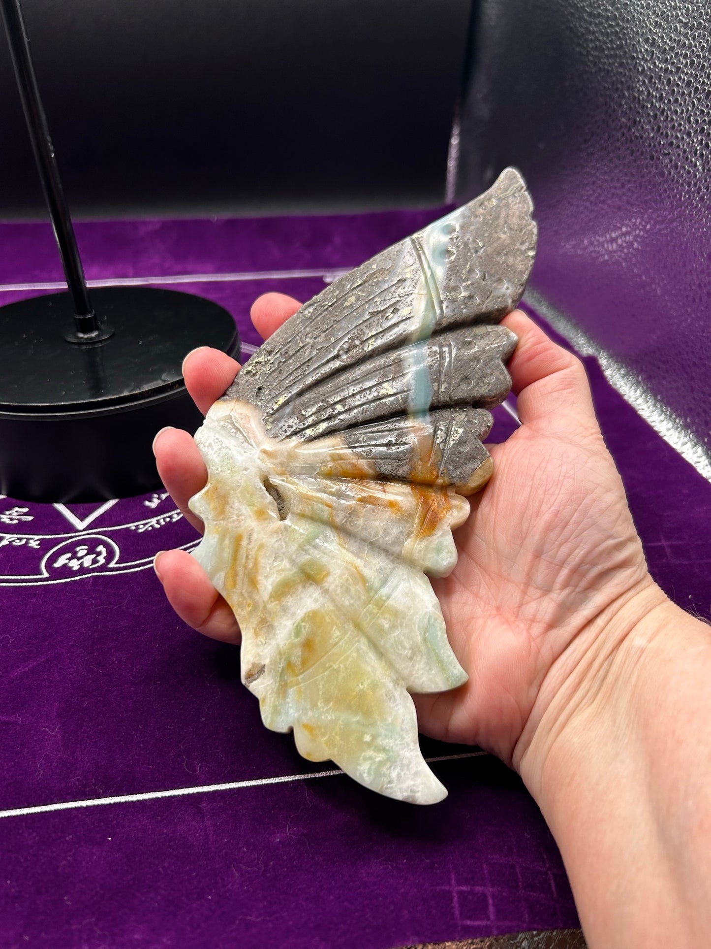
[[[24,0],[75,214],[436,204],[471,0]],[[5,42],[0,216],[45,214]]]

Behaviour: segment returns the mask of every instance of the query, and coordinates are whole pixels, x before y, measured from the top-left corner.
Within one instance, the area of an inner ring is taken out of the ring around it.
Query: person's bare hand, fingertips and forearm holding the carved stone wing
[[[300,304],[268,293],[268,337]],[[459,561],[432,582],[461,688],[417,696],[420,729],[481,745],[520,772],[560,847],[591,949],[711,944],[711,627],[652,581],[582,363],[520,310],[510,363],[521,420],[489,446],[494,475],[455,532]],[[238,365],[202,348],[185,381],[207,412]],[[188,500],[207,471],[164,429],[158,471]],[[182,550],[156,557],[175,612],[240,642],[231,610]]]

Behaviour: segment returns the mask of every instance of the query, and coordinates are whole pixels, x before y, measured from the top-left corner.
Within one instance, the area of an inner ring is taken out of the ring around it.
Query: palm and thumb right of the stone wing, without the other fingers
[[[556,732],[598,655],[665,596],[648,574],[583,364],[520,310],[502,325],[519,337],[508,370],[520,428],[487,445],[494,474],[455,531],[456,567],[432,581],[469,680],[413,698],[428,735],[481,745],[521,771],[541,722]],[[547,715],[564,687],[567,708]],[[545,748],[548,735],[538,738]],[[537,757],[524,775],[532,785]]]

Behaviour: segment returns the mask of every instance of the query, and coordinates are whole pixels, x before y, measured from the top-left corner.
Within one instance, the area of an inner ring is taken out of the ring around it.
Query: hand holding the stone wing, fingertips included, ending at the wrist
[[[252,319],[267,337],[299,306],[266,294],[252,307]],[[520,310],[503,325],[520,339],[509,371],[521,426],[505,443],[489,446],[494,474],[469,498],[471,515],[455,532],[457,566],[432,581],[469,680],[452,692],[413,698],[426,734],[479,744],[520,767],[550,698],[597,641],[600,618],[658,591],[582,363]],[[186,359],[186,385],[203,412],[237,368],[207,348]],[[155,456],[175,503],[202,530],[188,501],[204,487],[207,470],[191,436],[162,431]],[[159,554],[156,572],[186,623],[239,642],[231,609],[188,553]]]

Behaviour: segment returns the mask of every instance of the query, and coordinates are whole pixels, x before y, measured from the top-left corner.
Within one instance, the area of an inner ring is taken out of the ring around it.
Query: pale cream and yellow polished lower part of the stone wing
[[[423,573],[456,563],[465,498],[292,474],[303,442],[268,437],[246,402],[215,403],[196,440],[210,481],[191,500],[205,523],[195,556],[239,618],[266,727],[374,791],[442,800],[408,692],[466,680]]]

